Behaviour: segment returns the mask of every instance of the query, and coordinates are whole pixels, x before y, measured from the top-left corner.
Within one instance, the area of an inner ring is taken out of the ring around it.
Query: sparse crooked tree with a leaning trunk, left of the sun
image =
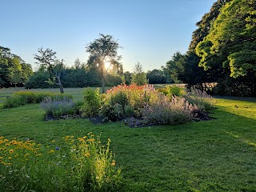
[[[49,84],[59,86],[60,92],[63,94],[64,89],[61,82],[61,74],[64,68],[63,59],[59,60],[56,57],[56,52],[47,48],[44,50],[42,47],[38,49],[38,54],[34,54],[34,58],[38,60],[38,64],[42,68],[46,68],[49,72]],[[57,81],[56,81],[57,80]]]

